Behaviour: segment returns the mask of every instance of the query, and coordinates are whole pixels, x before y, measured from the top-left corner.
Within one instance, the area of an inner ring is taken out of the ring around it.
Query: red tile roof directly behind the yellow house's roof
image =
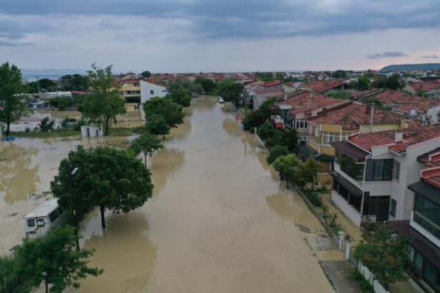
[[[331,105],[340,104],[343,100],[329,98],[322,94],[312,93],[311,91],[300,91],[298,93],[287,95],[287,100],[276,103],[275,105],[292,105],[294,109],[289,112],[292,114],[314,111],[329,107]],[[311,98],[312,97],[312,98]],[[309,105],[311,102],[311,105]],[[347,103],[350,101],[347,100]]]

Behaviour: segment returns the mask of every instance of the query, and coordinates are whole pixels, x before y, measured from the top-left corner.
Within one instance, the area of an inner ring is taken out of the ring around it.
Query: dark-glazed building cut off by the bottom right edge
[[[428,169],[408,185],[414,193],[410,219],[388,225],[410,240],[410,276],[426,292],[440,292],[440,148],[417,158]]]

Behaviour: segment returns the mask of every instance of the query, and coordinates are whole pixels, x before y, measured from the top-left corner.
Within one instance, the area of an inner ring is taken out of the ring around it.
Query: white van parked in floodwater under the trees
[[[60,216],[64,210],[56,199],[51,199],[25,217],[25,232],[30,239],[41,237],[55,226],[61,224]]]

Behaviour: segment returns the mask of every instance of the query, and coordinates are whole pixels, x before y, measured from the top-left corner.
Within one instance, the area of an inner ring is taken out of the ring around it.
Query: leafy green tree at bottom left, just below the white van
[[[69,286],[78,289],[80,279],[104,272],[88,266],[88,258],[95,250],[74,249],[78,238],[73,227],[65,226],[52,228],[45,237],[23,239],[23,244],[16,248],[17,256],[25,262],[19,274],[28,276],[32,287],[45,283],[46,293],[61,293]]]

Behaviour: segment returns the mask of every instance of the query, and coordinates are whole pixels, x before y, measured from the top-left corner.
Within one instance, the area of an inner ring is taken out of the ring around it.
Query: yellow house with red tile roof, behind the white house
[[[371,118],[372,114],[373,118]],[[373,109],[360,102],[353,102],[342,108],[333,108],[329,111],[326,109],[320,115],[308,118],[307,124],[309,131],[307,145],[318,155],[323,154],[326,158],[331,158],[331,160],[321,162],[327,166],[329,171],[335,155],[331,142],[347,140],[350,135],[358,132],[402,129],[420,125],[421,122],[407,120],[405,116],[397,113]],[[330,173],[320,173],[318,182],[331,183]]]

